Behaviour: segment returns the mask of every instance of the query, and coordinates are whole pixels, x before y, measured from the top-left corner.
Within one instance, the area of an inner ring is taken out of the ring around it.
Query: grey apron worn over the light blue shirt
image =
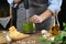
[[[48,0],[29,0],[29,15],[30,18],[34,14],[40,15],[43,13],[48,7]],[[22,31],[22,23],[26,21],[26,11],[24,9],[23,2],[19,4],[16,11],[16,29],[18,31]],[[52,23],[52,16],[42,23],[35,24],[36,30],[50,30],[50,25]]]

